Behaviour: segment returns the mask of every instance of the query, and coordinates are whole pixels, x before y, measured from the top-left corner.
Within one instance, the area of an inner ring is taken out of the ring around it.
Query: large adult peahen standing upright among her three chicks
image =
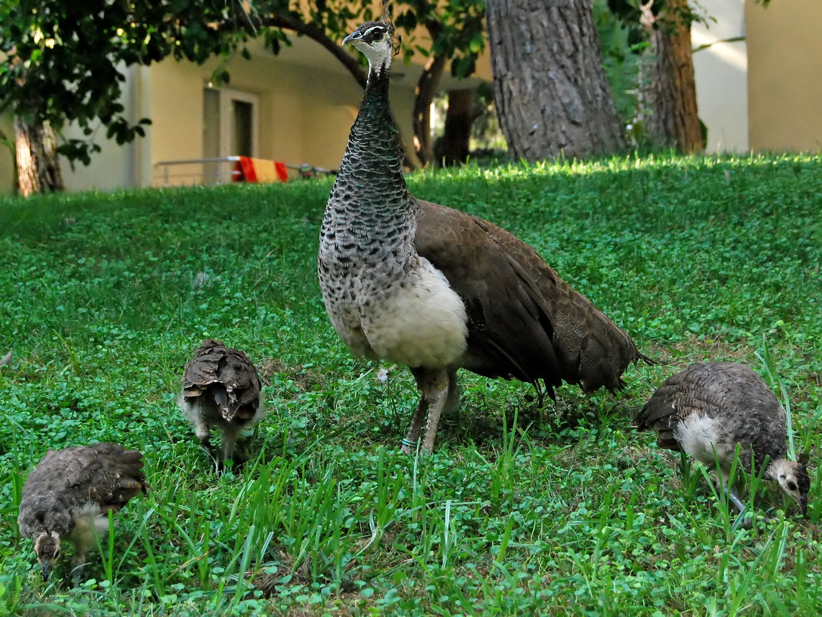
[[[384,17],[385,20],[385,17]],[[404,452],[431,452],[456,371],[517,378],[549,395],[623,387],[644,358],[630,336],[496,225],[409,194],[388,85],[394,28],[368,21],[344,39],[368,58],[368,82],[326,206],[318,271],[331,324],[354,354],[405,364],[422,398]],[[647,360],[647,359],[645,359]]]

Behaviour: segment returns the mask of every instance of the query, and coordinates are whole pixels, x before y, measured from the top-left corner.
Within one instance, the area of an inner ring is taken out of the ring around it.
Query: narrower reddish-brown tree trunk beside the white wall
[[[646,107],[645,132],[659,146],[690,153],[704,148],[696,109],[694,58],[686,0],[667,0],[665,12],[654,16],[651,2],[641,6],[648,30],[647,78],[642,87]]]

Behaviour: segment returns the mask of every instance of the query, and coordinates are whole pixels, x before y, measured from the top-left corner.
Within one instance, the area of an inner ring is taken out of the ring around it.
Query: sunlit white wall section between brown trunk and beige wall
[[[746,42],[715,43],[745,36],[745,0],[700,0],[708,26],[690,29],[694,49],[696,104],[708,126],[709,152],[746,152],[748,146],[748,56]],[[716,21],[714,21],[716,20]]]

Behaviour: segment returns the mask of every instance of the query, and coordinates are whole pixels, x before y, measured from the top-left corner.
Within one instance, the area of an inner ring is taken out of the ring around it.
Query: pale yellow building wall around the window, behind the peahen
[[[349,131],[356,118],[363,90],[350,73],[321,45],[304,37],[292,37],[293,46],[275,56],[252,40],[251,60],[238,53],[230,58],[230,84],[226,87],[256,97],[257,148],[261,158],[281,160],[293,165],[307,163],[335,169],[344,155]],[[413,152],[412,109],[414,90],[425,60],[417,54],[405,65],[395,58],[390,90],[391,104],[407,151]],[[213,58],[204,65],[166,59],[150,67],[122,67],[125,116],[136,123],[150,118],[146,137],[118,146],[105,137],[105,127],[93,126],[95,142],[102,152],[91,156],[91,165],[72,165],[62,160],[67,189],[72,191],[160,186],[166,183],[159,161],[203,158],[204,90],[215,69],[223,61]],[[478,76],[491,77],[487,53],[478,62]],[[446,69],[441,87],[473,87],[473,77],[457,81]],[[0,118],[0,128],[9,118]],[[65,128],[63,136],[84,138],[76,125]],[[13,166],[11,154],[0,150],[0,191],[11,192]],[[228,171],[229,167],[224,167]],[[200,181],[202,165],[169,166],[168,183]]]

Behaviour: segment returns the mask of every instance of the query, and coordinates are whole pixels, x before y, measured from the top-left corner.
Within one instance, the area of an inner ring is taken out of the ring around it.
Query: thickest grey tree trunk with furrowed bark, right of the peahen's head
[[[590,0],[488,0],[487,21],[497,114],[515,156],[625,147]]]

